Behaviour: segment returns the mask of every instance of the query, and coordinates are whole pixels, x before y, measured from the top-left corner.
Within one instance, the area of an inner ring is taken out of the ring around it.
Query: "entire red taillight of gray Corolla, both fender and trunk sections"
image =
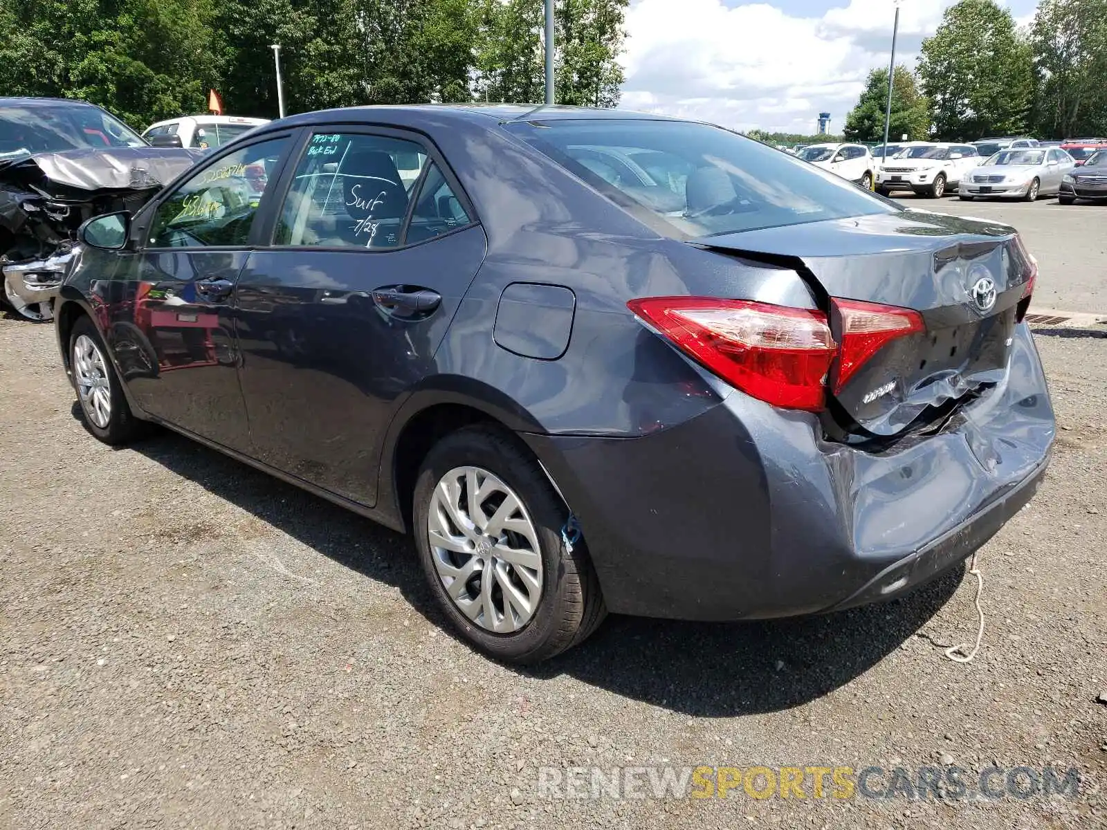
[[[774,406],[818,412],[836,357],[835,392],[890,340],[924,328],[909,309],[832,302],[841,318],[840,347],[821,311],[711,297],[650,297],[627,305],[732,386]]]

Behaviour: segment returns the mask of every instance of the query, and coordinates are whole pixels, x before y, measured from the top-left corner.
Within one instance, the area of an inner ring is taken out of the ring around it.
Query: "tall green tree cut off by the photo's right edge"
[[[1107,0],[1043,0],[1031,43],[1038,131],[1055,138],[1107,133]]]

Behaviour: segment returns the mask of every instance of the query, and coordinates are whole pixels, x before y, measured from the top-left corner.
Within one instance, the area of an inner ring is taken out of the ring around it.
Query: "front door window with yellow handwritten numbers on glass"
[[[157,206],[152,248],[245,246],[287,138],[251,144],[186,179]]]

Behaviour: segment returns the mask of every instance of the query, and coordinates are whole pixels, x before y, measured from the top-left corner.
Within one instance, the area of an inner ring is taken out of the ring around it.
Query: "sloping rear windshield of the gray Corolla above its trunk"
[[[661,218],[685,237],[899,211],[831,173],[706,124],[604,118],[508,128],[639,218]]]

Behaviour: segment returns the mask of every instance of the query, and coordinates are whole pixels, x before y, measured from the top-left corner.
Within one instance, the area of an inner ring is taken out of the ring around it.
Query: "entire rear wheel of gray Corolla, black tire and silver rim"
[[[415,485],[415,547],[455,630],[498,660],[537,663],[582,641],[607,611],[583,541],[537,459],[489,426],[447,435]]]

